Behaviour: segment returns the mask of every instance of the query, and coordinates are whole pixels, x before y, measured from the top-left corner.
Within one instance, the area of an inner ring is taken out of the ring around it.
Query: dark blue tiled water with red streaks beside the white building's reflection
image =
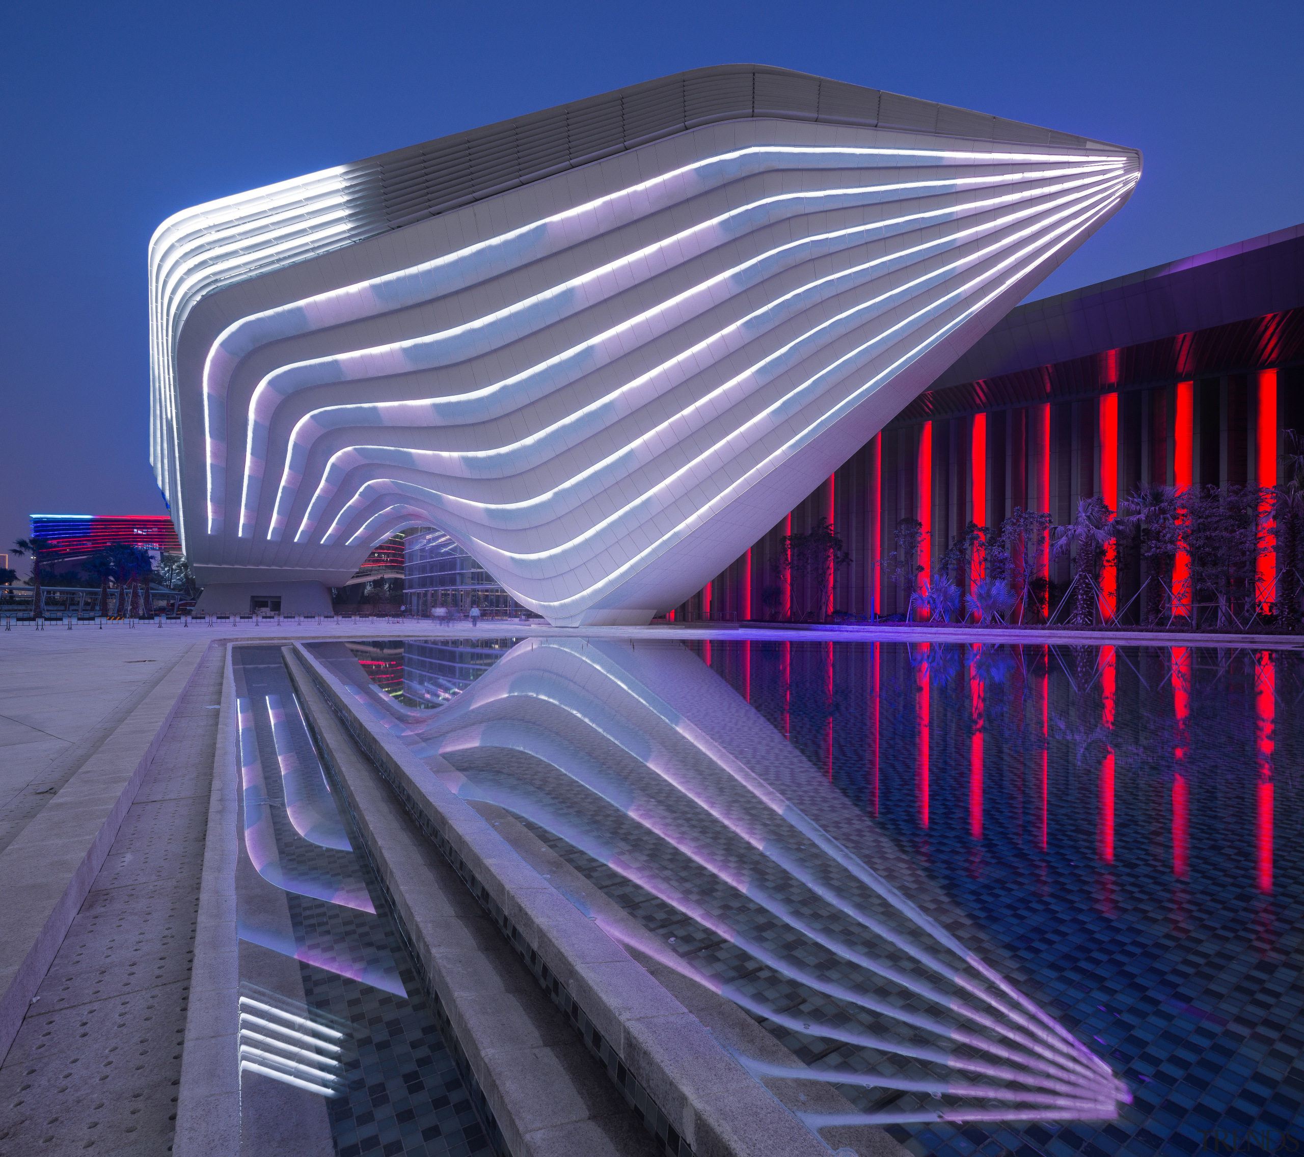
[[[1116,1123],[906,1148],[1304,1150],[1299,654],[686,645],[1133,1089]]]

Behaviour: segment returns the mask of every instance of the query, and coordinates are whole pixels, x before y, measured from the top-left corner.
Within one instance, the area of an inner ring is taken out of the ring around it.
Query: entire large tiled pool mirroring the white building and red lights
[[[915,1152],[1304,1144],[1299,651],[314,651]]]

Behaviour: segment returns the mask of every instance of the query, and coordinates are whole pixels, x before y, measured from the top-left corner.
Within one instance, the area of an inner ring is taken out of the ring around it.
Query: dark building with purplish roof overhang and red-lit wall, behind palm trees
[[[1082,498],[1116,511],[1146,485],[1273,486],[1291,430],[1304,431],[1304,225],[1016,307],[674,614],[900,614],[908,595],[879,563],[901,519],[923,524],[935,563],[970,521],[1015,508],[1063,525]],[[820,519],[853,562],[831,593],[790,589],[782,536]],[[1270,602],[1274,555],[1258,565]],[[1068,562],[1042,569],[1063,592]],[[1150,575],[1128,547],[1108,554],[1102,611],[1140,621]],[[1180,611],[1183,576],[1159,577]]]

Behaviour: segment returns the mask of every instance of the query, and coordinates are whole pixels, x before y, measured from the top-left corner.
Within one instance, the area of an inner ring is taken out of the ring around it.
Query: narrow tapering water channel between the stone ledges
[[[340,1157],[499,1150],[447,1016],[421,984],[348,809],[336,807],[280,648],[233,648],[232,678],[246,1147],[334,1144]]]

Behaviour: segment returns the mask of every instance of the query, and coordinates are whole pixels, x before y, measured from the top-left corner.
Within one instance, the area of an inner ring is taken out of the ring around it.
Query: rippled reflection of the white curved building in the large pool
[[[449,676],[466,666],[456,646],[432,651]],[[553,886],[636,962],[782,1042],[786,1066],[743,1058],[759,1079],[836,1085],[849,1104],[802,1113],[812,1127],[1116,1115],[1108,1066],[994,972],[918,865],[690,650],[532,640],[490,658],[432,713],[333,666],[445,787],[559,855],[589,887]]]

